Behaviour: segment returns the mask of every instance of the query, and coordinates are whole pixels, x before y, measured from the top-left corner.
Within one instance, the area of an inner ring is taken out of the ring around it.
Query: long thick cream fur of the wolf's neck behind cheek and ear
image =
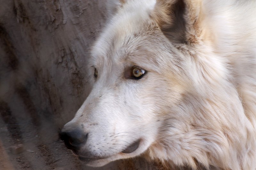
[[[192,65],[199,66],[197,71],[201,68],[204,78],[210,79],[199,78],[201,82],[196,84],[196,88],[205,88],[202,91],[190,93],[188,90],[184,93],[184,100],[176,110],[170,111],[171,115],[166,116],[165,127],[160,128],[162,134],[148,149],[148,155],[165,163],[193,169],[200,166],[210,169],[210,166],[214,166],[220,169],[253,170],[256,168],[256,30],[252,32],[250,29],[256,28],[256,21],[250,18],[255,17],[250,16],[252,12],[239,10],[241,5],[248,5],[245,1],[244,4],[223,1],[199,4],[201,9],[198,18],[201,20],[197,26],[200,27],[200,33],[195,34],[193,29],[191,33],[187,32],[187,35],[196,36],[196,41],[181,46],[184,51],[191,51],[191,48],[195,51],[197,59]],[[255,10],[255,3],[251,5],[247,10]],[[230,18],[236,12],[241,13]],[[177,43],[172,33],[167,35],[171,42]],[[221,70],[224,75],[212,75],[213,72],[218,74],[220,68],[212,67],[216,62],[212,63],[210,56],[216,57],[217,63],[225,68]],[[173,113],[191,113],[191,117],[184,118],[182,126],[175,124],[179,121],[170,119]],[[178,129],[181,127],[186,128],[180,132]],[[170,136],[163,137],[164,134]]]

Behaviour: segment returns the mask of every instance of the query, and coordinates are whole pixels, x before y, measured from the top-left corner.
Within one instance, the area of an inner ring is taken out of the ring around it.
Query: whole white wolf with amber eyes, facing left
[[[89,166],[256,169],[256,1],[120,0],[61,132]]]

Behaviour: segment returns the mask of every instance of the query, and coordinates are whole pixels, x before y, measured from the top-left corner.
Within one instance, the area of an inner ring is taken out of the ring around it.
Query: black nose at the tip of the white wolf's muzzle
[[[81,147],[81,144],[86,143],[88,133],[84,133],[80,129],[74,129],[71,131],[62,130],[60,132],[60,139],[64,141],[68,149],[74,151],[78,150]]]

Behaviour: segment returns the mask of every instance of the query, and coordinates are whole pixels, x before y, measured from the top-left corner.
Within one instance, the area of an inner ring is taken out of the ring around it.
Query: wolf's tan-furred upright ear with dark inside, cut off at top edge
[[[201,37],[200,0],[157,0],[153,18],[174,43],[195,43]]]

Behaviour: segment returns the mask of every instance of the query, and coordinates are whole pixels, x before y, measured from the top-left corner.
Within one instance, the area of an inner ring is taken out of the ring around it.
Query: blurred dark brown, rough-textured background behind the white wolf
[[[0,170],[160,169],[142,158],[87,167],[59,139],[91,89],[85,66],[105,0],[0,4]]]

